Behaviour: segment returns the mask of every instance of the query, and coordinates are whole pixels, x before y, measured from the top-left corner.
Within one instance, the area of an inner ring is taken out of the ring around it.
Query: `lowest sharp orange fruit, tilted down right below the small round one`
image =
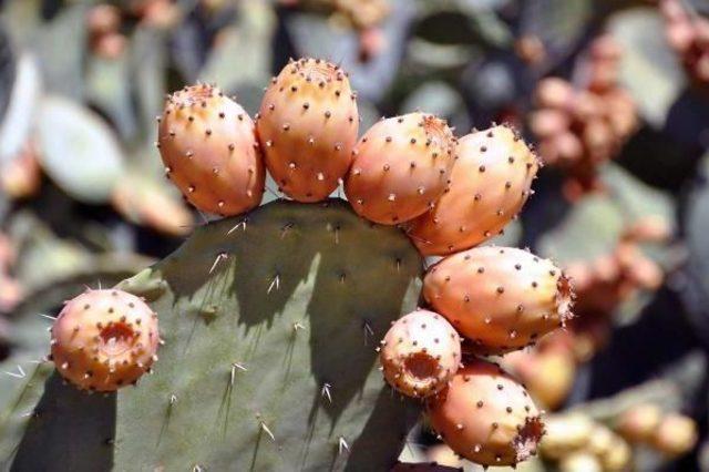
[[[466,362],[427,410],[453,451],[483,465],[514,465],[536,454],[544,431],[524,387],[482,360]]]

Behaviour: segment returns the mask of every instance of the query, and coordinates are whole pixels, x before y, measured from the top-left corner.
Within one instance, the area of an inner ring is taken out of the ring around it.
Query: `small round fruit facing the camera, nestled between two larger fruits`
[[[379,356],[391,387],[409,397],[429,397],[458,371],[461,338],[439,314],[417,310],[392,322]]]

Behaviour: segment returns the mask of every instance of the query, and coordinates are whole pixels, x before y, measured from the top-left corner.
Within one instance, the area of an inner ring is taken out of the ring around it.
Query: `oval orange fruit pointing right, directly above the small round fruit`
[[[476,352],[487,355],[533,345],[564,326],[575,297],[551,260],[492,246],[442,259],[427,274],[423,296]]]

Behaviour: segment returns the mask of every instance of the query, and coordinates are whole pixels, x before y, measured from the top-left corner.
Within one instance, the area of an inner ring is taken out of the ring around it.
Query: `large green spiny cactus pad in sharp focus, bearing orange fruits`
[[[401,232],[340,201],[201,227],[119,286],[158,314],[154,374],[107,399],[53,376],[37,414],[0,414],[0,465],[96,470],[76,449],[103,448],[117,471],[388,470],[418,414],[383,388],[374,345],[415,308],[421,270]]]

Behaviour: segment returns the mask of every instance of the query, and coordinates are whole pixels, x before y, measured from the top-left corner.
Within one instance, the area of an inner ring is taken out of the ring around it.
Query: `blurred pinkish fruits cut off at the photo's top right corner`
[[[665,35],[695,85],[709,92],[709,19],[679,0],[661,0]]]

